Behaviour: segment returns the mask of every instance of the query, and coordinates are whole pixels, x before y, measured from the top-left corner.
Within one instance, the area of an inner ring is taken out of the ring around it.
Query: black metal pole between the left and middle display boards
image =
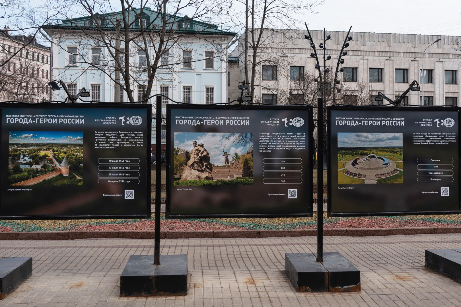
[[[160,264],[160,207],[162,178],[162,96],[157,96],[155,104],[155,233],[154,265]]]

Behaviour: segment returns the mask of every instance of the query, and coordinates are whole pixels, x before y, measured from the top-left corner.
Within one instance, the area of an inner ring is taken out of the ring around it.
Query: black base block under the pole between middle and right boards
[[[285,253],[285,272],[296,292],[360,291],[360,271],[339,253]]]

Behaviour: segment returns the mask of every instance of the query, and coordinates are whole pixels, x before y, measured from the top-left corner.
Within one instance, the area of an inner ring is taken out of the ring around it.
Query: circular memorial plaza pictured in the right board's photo
[[[376,183],[377,179],[398,174],[396,162],[376,154],[354,158],[345,165],[343,174],[365,180],[365,183]]]

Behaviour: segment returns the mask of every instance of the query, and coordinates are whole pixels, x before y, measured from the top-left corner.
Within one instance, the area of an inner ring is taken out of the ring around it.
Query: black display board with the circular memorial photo
[[[328,215],[459,214],[458,108],[327,108]]]

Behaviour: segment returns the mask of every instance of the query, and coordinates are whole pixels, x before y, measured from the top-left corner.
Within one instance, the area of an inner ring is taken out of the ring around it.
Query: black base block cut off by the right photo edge
[[[461,283],[461,249],[426,249],[426,266]]]

